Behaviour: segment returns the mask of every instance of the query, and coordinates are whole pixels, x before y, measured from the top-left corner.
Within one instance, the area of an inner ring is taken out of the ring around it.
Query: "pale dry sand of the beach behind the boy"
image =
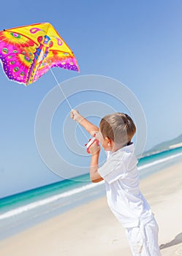
[[[182,164],[143,179],[140,188],[159,224],[162,256],[182,255]],[[102,197],[1,241],[0,255],[131,256],[131,252],[124,228]]]

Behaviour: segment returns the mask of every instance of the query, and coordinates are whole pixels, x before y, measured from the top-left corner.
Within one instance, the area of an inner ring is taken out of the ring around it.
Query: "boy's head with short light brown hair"
[[[100,121],[99,128],[104,140],[107,138],[107,142],[111,141],[120,148],[129,145],[136,132],[132,118],[124,113],[105,116]]]

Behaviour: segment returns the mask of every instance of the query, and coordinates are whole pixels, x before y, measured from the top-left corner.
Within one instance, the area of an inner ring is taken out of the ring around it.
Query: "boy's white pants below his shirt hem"
[[[161,256],[158,245],[159,227],[153,218],[147,224],[126,228],[126,236],[133,256]]]

